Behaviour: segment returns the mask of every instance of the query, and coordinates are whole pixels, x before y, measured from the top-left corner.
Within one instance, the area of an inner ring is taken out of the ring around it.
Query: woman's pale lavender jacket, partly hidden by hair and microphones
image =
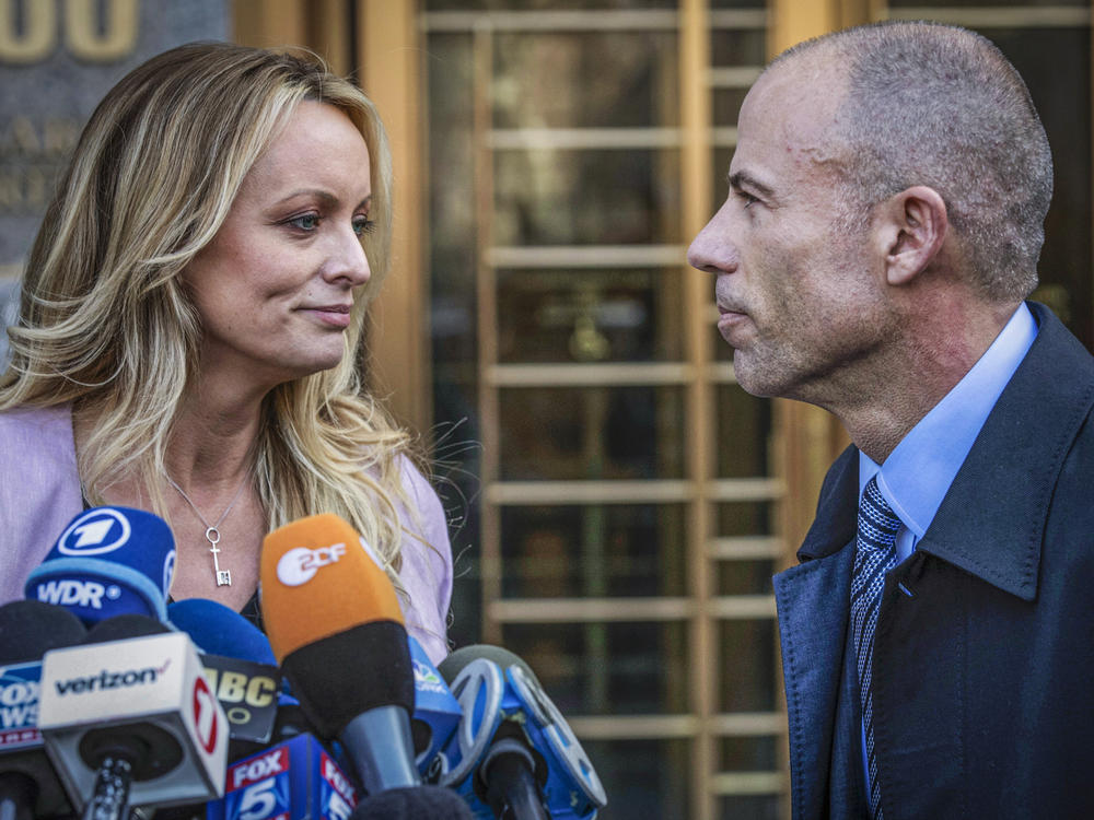
[[[404,465],[407,495],[418,507],[419,535],[434,548],[415,538],[403,541],[399,577],[411,600],[405,613],[407,632],[437,664],[449,653],[452,550],[440,499],[409,461]],[[0,604],[23,597],[26,576],[81,509],[71,408],[0,412]],[[403,523],[416,531],[409,516]]]

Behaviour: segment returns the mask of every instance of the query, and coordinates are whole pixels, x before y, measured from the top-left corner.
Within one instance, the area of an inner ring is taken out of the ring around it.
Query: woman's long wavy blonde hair
[[[387,139],[368,97],[313,55],[182,46],[124,78],[85,127],[27,261],[0,409],[72,402],[94,418],[79,457],[94,503],[121,476],[137,476],[164,514],[165,445],[201,338],[179,274],[304,99],[344,112],[368,145],[371,295],[388,267]],[[398,458],[409,436],[362,382],[366,302],[356,300],[338,366],[266,397],[256,491],[271,529],[318,512],[341,515],[398,584],[397,508],[415,509]]]

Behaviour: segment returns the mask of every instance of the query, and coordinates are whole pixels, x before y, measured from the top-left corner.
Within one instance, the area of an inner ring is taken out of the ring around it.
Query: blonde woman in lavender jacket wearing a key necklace
[[[376,112],[310,57],[193,44],[123,79],[46,213],[9,329],[0,601],[81,508],[119,504],[170,523],[173,598],[253,613],[266,532],[329,512],[442,658],[444,515],[360,374],[391,224]]]

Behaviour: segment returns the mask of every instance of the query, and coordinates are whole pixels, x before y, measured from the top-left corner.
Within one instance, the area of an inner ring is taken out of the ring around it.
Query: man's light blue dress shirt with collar
[[[884,464],[878,466],[860,450],[859,496],[877,476],[877,489],[900,518],[898,563],[912,553],[931,526],[980,427],[1036,336],[1037,323],[1023,304],[973,368],[911,429]],[[865,748],[863,728],[862,771],[870,794]]]

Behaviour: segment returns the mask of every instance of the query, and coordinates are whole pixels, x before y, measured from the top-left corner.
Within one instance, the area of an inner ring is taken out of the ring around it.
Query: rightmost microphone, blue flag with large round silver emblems
[[[581,743],[528,666],[497,646],[466,646],[441,661],[464,718],[440,783],[496,818],[593,818],[607,804]]]

